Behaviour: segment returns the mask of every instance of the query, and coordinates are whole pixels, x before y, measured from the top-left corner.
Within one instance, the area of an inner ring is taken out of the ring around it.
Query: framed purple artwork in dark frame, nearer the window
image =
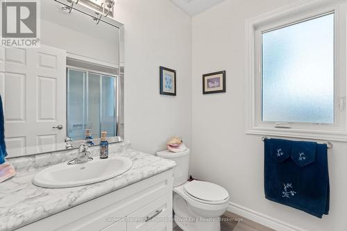
[[[203,75],[203,94],[226,92],[226,71]]]

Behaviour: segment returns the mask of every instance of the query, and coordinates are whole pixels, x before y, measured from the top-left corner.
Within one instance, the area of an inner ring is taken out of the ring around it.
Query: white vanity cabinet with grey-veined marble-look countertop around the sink
[[[97,148],[92,147],[97,157]],[[17,176],[1,183],[0,230],[172,230],[171,160],[110,146],[110,157],[133,162],[125,173],[91,185],[48,189],[33,185],[42,169],[71,160],[76,150],[12,159]],[[106,160],[107,161],[107,160]]]

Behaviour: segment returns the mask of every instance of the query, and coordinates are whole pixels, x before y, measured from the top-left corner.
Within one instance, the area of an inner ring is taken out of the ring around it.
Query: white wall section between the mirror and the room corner
[[[172,135],[191,144],[192,19],[170,0],[117,0],[125,24],[125,137],[154,154]],[[159,94],[160,65],[176,69],[177,96]]]

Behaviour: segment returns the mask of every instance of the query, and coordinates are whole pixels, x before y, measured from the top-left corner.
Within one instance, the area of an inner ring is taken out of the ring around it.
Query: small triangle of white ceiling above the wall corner
[[[176,5],[189,15],[196,15],[224,0],[172,0]]]

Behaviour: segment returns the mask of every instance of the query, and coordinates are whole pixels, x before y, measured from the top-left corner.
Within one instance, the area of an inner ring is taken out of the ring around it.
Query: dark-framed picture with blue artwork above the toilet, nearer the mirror
[[[176,71],[160,67],[160,94],[176,96]]]

